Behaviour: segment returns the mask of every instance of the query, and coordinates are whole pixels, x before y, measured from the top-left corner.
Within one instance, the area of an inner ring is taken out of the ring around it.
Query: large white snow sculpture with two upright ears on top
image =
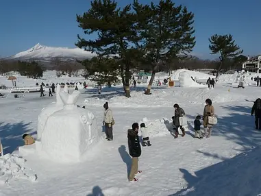
[[[78,162],[101,138],[92,112],[77,108],[79,91],[60,91],[64,108],[51,114],[42,132],[39,149],[57,162]]]

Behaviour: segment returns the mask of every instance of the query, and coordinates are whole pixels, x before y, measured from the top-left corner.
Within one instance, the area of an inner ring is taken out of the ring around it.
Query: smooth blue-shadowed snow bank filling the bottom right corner
[[[261,193],[261,147],[224,160],[195,172],[197,177],[184,175],[188,188],[180,195],[259,195]],[[187,177],[187,178],[186,178]],[[190,184],[190,182],[192,182]],[[193,184],[193,182],[196,182]]]

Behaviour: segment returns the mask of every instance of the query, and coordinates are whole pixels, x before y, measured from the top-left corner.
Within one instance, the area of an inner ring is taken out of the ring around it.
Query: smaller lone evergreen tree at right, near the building
[[[216,69],[216,77],[218,77],[221,69],[225,68],[225,62],[229,62],[232,58],[238,58],[243,53],[243,50],[240,50],[240,47],[235,44],[231,34],[214,34],[208,40],[210,41],[210,54],[220,55],[220,64]]]

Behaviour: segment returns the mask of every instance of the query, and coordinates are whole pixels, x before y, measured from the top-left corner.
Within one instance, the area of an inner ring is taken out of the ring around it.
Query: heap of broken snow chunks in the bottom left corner
[[[0,157],[0,183],[10,184],[16,179],[37,180],[37,175],[27,167],[26,160],[18,157],[18,155],[5,154]]]

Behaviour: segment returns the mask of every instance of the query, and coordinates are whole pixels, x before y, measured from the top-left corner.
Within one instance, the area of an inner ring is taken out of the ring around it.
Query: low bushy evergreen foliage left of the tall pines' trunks
[[[119,62],[113,58],[94,57],[84,60],[82,64],[86,67],[86,77],[97,84],[118,81]]]

